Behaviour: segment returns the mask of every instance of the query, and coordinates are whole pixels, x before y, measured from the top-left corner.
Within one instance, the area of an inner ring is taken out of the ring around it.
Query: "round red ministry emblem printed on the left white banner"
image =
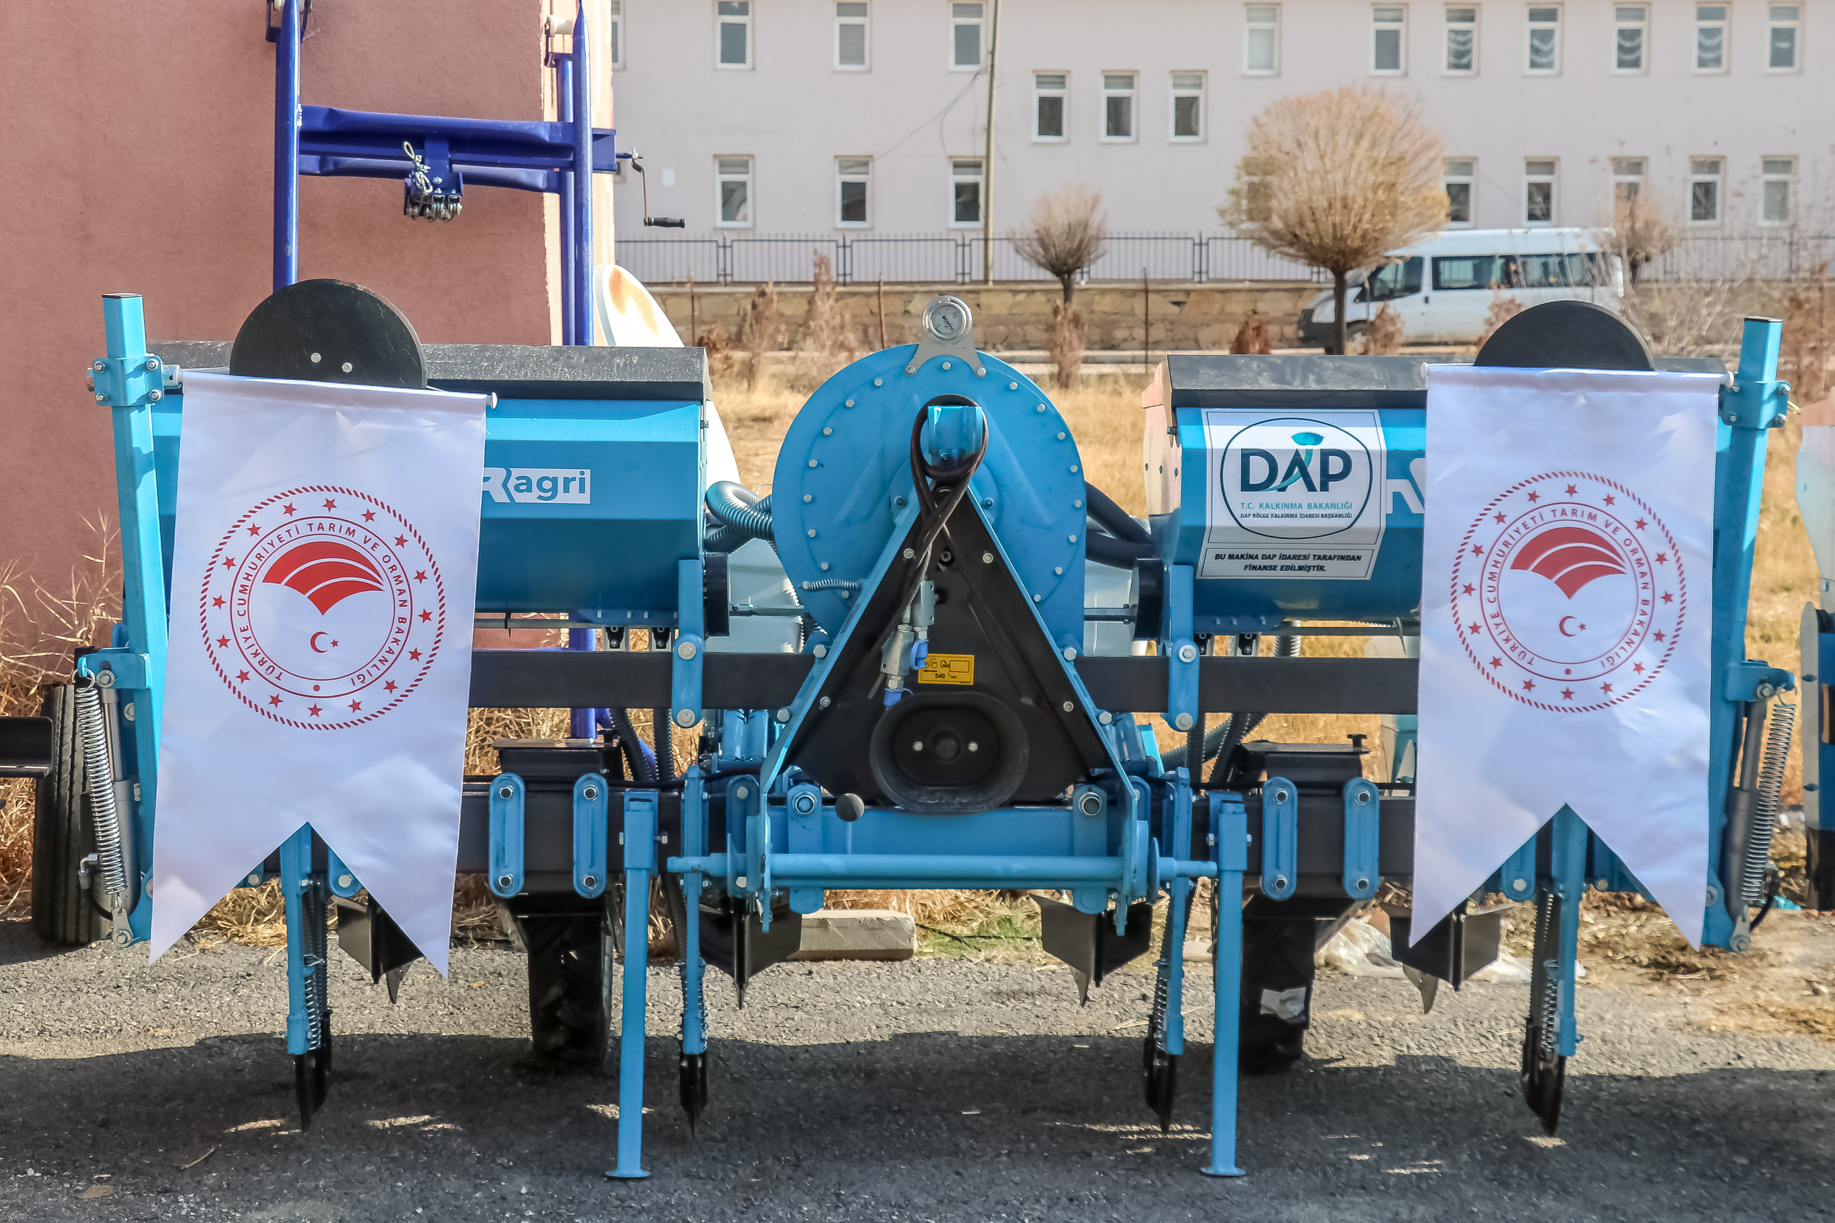
[[[420,686],[446,634],[446,587],[395,508],[312,484],[268,497],[224,534],[198,625],[244,704],[284,726],[336,730]]]

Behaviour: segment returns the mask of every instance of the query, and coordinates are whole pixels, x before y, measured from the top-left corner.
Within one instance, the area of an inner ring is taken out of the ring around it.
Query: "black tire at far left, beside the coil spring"
[[[110,922],[94,893],[77,886],[83,858],[95,853],[95,825],[83,794],[77,689],[48,688],[40,713],[51,719],[51,774],[39,779],[33,801],[31,930],[46,942],[83,946],[106,939]]]

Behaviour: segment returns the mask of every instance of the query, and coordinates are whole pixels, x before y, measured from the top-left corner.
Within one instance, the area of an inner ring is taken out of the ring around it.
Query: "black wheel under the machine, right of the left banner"
[[[611,1052],[609,924],[598,913],[543,913],[517,924],[528,946],[528,1029],[536,1060],[604,1065]]]

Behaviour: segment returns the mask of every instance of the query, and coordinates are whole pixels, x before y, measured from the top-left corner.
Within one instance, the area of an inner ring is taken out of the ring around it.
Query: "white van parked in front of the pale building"
[[[1611,231],[1446,229],[1352,271],[1345,319],[1351,336],[1362,336],[1387,304],[1402,319],[1402,343],[1474,345],[1497,297],[1525,308],[1573,297],[1618,314],[1624,264],[1611,253]],[[1325,290],[1299,312],[1301,343],[1329,350],[1336,317]]]

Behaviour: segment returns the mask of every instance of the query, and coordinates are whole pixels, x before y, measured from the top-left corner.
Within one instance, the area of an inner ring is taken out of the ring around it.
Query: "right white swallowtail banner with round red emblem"
[[[1565,803],[1699,944],[1718,387],[1428,369],[1417,937]]]

